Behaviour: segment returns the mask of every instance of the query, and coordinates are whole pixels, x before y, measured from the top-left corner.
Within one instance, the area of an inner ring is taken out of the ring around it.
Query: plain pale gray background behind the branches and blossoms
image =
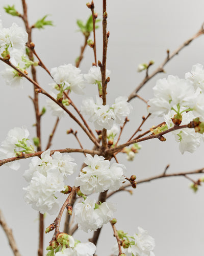
[[[79,55],[80,46],[84,38],[77,33],[75,20],[86,19],[90,10],[86,7],[87,0],[36,0],[28,1],[29,20],[34,23],[45,14],[52,14],[55,27],[45,30],[35,30],[33,40],[36,44],[36,51],[44,60],[47,67],[53,68],[64,63],[73,63]],[[15,4],[21,11],[20,1],[2,0],[1,9],[4,27],[9,27],[13,22],[22,25],[17,17],[5,14],[3,6]],[[137,65],[155,60],[154,70],[166,57],[166,50],[174,50],[182,42],[192,36],[204,21],[203,1],[108,1],[108,30],[110,39],[108,45],[107,68],[111,70],[111,82],[108,86],[108,102],[112,104],[114,98],[120,95],[129,95],[144,74],[137,73]],[[102,1],[95,1],[95,11],[101,17]],[[101,26],[100,26],[101,27]],[[184,77],[185,72],[191,70],[196,63],[204,64],[204,37],[196,39],[188,48],[184,49],[179,56],[176,56],[165,68],[166,74],[159,74],[152,79],[140,95],[145,99],[152,97],[151,88],[158,78],[168,74]],[[101,29],[97,30],[97,58],[101,60]],[[86,49],[85,58],[82,61],[81,69],[86,73],[93,62],[91,49]],[[1,64],[1,70],[4,69]],[[47,74],[38,69],[38,80],[43,88],[48,90],[47,84],[52,80]],[[35,136],[35,129],[32,124],[33,105],[27,95],[33,94],[32,85],[26,82],[23,90],[13,90],[6,86],[2,77],[1,86],[1,133],[0,141],[3,141],[10,129],[15,126],[25,125],[31,135]],[[94,96],[96,90],[87,88],[86,94]],[[78,106],[82,97],[72,95]],[[40,105],[45,103],[45,96],[40,96]],[[146,115],[146,106],[138,99],[131,101],[134,112],[131,114],[131,122],[126,125],[121,142],[125,142],[141,122],[141,116]],[[42,145],[45,147],[47,137],[53,129],[55,118],[46,113],[42,119]],[[160,120],[149,119],[144,130],[151,125],[157,124]],[[79,147],[71,135],[67,136],[66,130],[79,129],[69,118],[64,118],[58,127],[52,148]],[[83,145],[91,148],[91,143],[83,132],[79,132]],[[142,150],[136,156],[134,162],[127,162],[125,156],[121,156],[120,162],[127,167],[127,175],[136,174],[138,180],[144,177],[153,176],[163,172],[167,164],[171,164],[168,172],[180,172],[192,170],[204,166],[203,144],[194,154],[185,153],[181,155],[179,144],[171,135],[166,136],[166,142],[159,140],[146,141],[141,143]],[[74,155],[80,165],[83,155]],[[37,218],[38,214],[26,205],[23,200],[22,187],[27,186],[22,174],[28,168],[30,160],[21,160],[21,168],[18,171],[11,170],[5,166],[1,167],[1,197],[0,204],[6,220],[13,228],[22,255],[37,255]],[[76,174],[77,175],[77,174]],[[199,178],[200,176],[197,176]],[[72,184],[72,180],[70,183]],[[165,180],[152,181],[148,184],[138,185],[134,196],[121,192],[110,199],[118,204],[115,217],[118,219],[117,228],[133,234],[138,226],[149,230],[149,233],[156,240],[155,254],[157,256],[202,256],[203,255],[203,187],[200,187],[197,194],[189,189],[189,181],[184,178],[169,178]],[[121,203],[122,202],[122,203]],[[54,220],[54,216],[47,216],[45,225],[48,226]],[[88,237],[90,237],[89,234]],[[52,232],[45,236],[45,247],[52,237]],[[86,241],[86,234],[78,231],[75,239]],[[115,244],[112,229],[107,224],[100,236],[97,255],[110,255],[111,248]],[[0,228],[1,255],[12,255],[2,228]]]

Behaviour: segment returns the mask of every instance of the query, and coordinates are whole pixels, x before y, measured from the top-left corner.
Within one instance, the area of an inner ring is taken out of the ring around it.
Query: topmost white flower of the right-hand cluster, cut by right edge
[[[201,64],[194,65],[191,72],[185,74],[185,78],[193,82],[195,89],[199,88],[204,92],[204,70]]]

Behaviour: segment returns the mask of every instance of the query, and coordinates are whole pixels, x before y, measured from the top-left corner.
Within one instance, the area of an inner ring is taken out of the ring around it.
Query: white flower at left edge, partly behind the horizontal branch
[[[0,158],[6,159],[16,156],[16,152],[21,151],[22,148],[16,146],[19,141],[27,139],[29,136],[29,131],[25,128],[15,127],[8,132],[6,140],[1,144],[0,148]],[[17,170],[20,168],[19,161],[7,163],[7,166]]]

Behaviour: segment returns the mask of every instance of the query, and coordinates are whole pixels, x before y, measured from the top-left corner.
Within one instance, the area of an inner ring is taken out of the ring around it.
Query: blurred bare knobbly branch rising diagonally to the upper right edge
[[[133,98],[135,98],[137,96],[137,92],[146,84],[146,82],[148,82],[152,77],[154,77],[155,75],[157,75],[158,73],[164,72],[164,66],[166,65],[166,63],[169,62],[169,60],[171,60],[175,55],[179,54],[180,51],[185,48],[186,46],[188,46],[195,38],[199,37],[200,35],[204,34],[204,29],[203,29],[203,25],[202,27],[198,30],[198,32],[193,35],[192,37],[190,37],[189,39],[187,39],[179,48],[177,48],[174,52],[172,52],[171,54],[167,54],[167,57],[165,58],[165,60],[161,63],[161,65],[154,71],[152,72],[150,75],[147,74],[147,76],[145,76],[145,78],[142,80],[142,82],[138,85],[138,87],[130,94],[129,98],[127,101],[131,101]]]

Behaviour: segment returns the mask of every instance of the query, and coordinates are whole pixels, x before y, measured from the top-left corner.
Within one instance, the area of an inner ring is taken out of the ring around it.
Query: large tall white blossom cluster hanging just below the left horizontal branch
[[[64,181],[77,168],[73,158],[67,153],[55,152],[50,156],[50,150],[42,153],[41,158],[32,158],[29,169],[25,170],[24,178],[29,182],[25,202],[42,214],[55,214],[59,208],[56,193],[64,190]]]

